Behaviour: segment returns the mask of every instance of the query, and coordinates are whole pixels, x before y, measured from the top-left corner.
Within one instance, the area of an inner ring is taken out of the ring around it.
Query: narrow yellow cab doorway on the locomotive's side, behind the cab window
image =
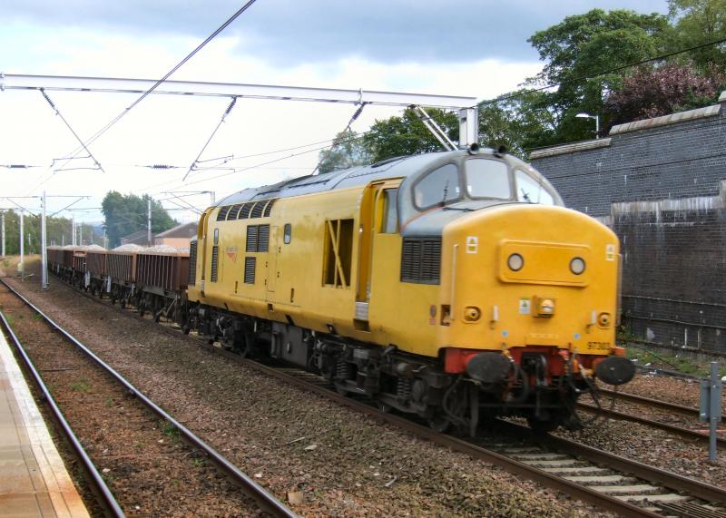
[[[401,179],[378,181],[368,185],[360,202],[360,243],[358,246],[358,279],[356,286],[355,324],[359,330],[367,330],[368,305],[373,266],[375,236],[393,225],[396,231],[396,199]],[[391,214],[393,223],[391,223]]]

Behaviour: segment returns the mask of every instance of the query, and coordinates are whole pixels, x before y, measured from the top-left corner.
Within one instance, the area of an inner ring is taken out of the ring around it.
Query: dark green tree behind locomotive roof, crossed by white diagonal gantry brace
[[[428,115],[437,122],[443,132],[454,142],[459,138],[458,116],[436,108],[427,108]],[[412,155],[430,151],[443,151],[441,143],[428,131],[412,108],[402,116],[376,121],[363,137],[363,145],[372,161],[382,161],[395,156]]]

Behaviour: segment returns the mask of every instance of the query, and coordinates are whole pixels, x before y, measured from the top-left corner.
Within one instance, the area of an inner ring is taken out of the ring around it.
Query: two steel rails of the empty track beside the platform
[[[252,480],[250,476],[241,472],[237,466],[232,464],[228,459],[226,459],[224,456],[214,450],[211,445],[208,445],[207,443],[202,441],[200,437],[194,435],[191,430],[189,430],[186,426],[175,420],[172,415],[169,415],[160,406],[157,406],[155,403],[153,403],[152,400],[145,396],[139,389],[133,386],[128,380],[126,380],[125,378],[123,378],[123,376],[113,370],[112,367],[105,364],[101,358],[94,355],[90,349],[83,346],[81,342],[79,342],[71,334],[65,331],[63,327],[60,327],[57,323],[54,322],[53,319],[46,316],[43,311],[41,311],[39,308],[36,308],[29,300],[24,298],[14,288],[10,287],[7,283],[5,283],[5,280],[0,279],[0,283],[2,283],[2,285],[7,290],[2,290],[5,291],[5,294],[13,294],[17,299],[22,300],[25,307],[30,308],[34,312],[34,315],[37,315],[38,318],[41,318],[47,324],[48,332],[50,333],[50,335],[54,335],[54,331],[57,331],[57,333],[60,334],[61,337],[63,337],[65,342],[72,345],[75,350],[83,353],[83,356],[87,357],[95,367],[101,369],[103,371],[104,377],[112,378],[113,382],[117,387],[117,390],[120,389],[121,392],[125,393],[126,396],[132,396],[133,401],[132,403],[127,404],[128,406],[132,406],[133,402],[144,406],[148,411],[151,411],[152,415],[154,415],[154,420],[156,423],[164,424],[164,434],[169,435],[170,437],[176,437],[177,435],[180,436],[182,440],[187,445],[189,445],[188,449],[190,449],[190,452],[187,452],[183,456],[201,453],[203,455],[203,458],[199,459],[200,465],[202,463],[206,463],[206,461],[211,462],[211,464],[213,464],[221,474],[229,479],[232,484],[237,486],[243,494],[247,495],[248,497],[250,497],[251,500],[254,501],[254,505],[256,505],[258,510],[278,517],[291,518],[297,516],[296,513],[293,513],[288,507],[280,503],[280,501],[275,498],[274,495],[270,494],[267,490],[261,487],[260,484],[257,484],[254,480]],[[0,293],[2,293],[2,291],[0,291]],[[17,309],[18,308],[15,308],[15,310]],[[34,383],[36,384],[36,386],[38,386],[41,394],[43,394],[44,400],[48,402],[48,406],[50,407],[51,412],[54,415],[54,419],[57,423],[60,424],[64,435],[67,437],[69,443],[73,448],[75,456],[82,463],[84,471],[87,474],[86,478],[87,480],[89,480],[89,484],[91,485],[93,494],[96,495],[99,504],[103,507],[104,513],[111,516],[125,516],[122,506],[117,502],[112,492],[109,490],[108,485],[105,483],[103,474],[99,473],[99,470],[93,464],[93,461],[91,459],[92,455],[87,454],[83,449],[83,446],[81,444],[82,442],[74,434],[74,431],[71,429],[71,425],[68,424],[68,421],[64,417],[61,408],[54,401],[53,396],[51,396],[51,390],[49,390],[48,387],[45,385],[43,377],[39,373],[39,370],[73,371],[76,369],[80,369],[81,367],[75,366],[61,369],[36,368],[35,366],[40,363],[38,360],[40,360],[41,358],[33,358],[33,354],[28,354],[28,352],[25,350],[25,347],[23,347],[20,339],[13,331],[7,318],[5,318],[5,315],[3,315],[2,313],[0,313],[0,321],[2,322],[2,327],[4,328],[5,333],[8,337],[10,337],[12,343],[15,345],[19,356],[25,362],[25,367],[27,367],[28,371],[31,373],[31,377]],[[52,340],[53,338],[51,337],[50,339]],[[92,382],[86,379],[86,383],[88,385],[91,385]],[[93,383],[96,383],[95,378],[93,378]],[[55,384],[56,388],[58,385],[58,383]],[[80,391],[88,390],[87,386],[86,388],[83,388],[83,386],[81,385],[76,386]],[[132,409],[129,408],[128,414],[132,414],[132,412]],[[124,414],[126,414],[126,412],[124,412]],[[129,415],[128,418],[138,418],[138,415]],[[163,439],[159,442],[163,443]],[[132,443],[132,441],[129,440],[129,443],[127,444],[128,449],[131,450],[132,445],[135,444],[135,442]],[[133,456],[131,452],[125,453],[128,454],[127,456]],[[194,459],[192,458],[192,460]],[[103,471],[106,472],[108,470]],[[133,468],[130,468],[130,471],[133,471]],[[174,475],[179,477],[182,476],[182,474],[178,473],[175,473]],[[223,480],[222,477],[221,479]],[[139,508],[136,507],[132,511],[132,513],[139,513]]]

